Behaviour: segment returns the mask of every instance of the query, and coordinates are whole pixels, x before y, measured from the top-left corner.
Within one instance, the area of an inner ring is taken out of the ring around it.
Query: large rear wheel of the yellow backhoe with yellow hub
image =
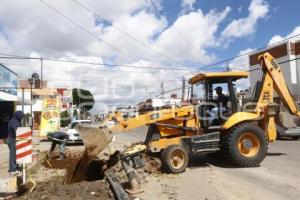
[[[253,123],[241,123],[224,133],[221,149],[237,167],[257,167],[267,154],[267,137]]]

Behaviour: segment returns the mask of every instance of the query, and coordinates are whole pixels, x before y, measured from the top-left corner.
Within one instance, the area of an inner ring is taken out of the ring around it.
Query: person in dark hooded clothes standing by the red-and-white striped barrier
[[[8,172],[11,175],[16,174],[18,171],[18,165],[16,161],[16,132],[19,127],[22,126],[21,121],[24,117],[22,111],[15,112],[13,118],[8,123],[8,136],[7,145],[9,148],[9,169]]]

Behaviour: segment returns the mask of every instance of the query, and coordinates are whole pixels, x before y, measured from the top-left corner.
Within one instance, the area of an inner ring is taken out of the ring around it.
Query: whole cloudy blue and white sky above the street
[[[159,96],[180,87],[182,75],[300,33],[299,7],[296,0],[2,0],[0,54],[126,65],[44,61],[49,87],[89,89],[98,111]],[[40,71],[39,60],[0,62],[20,79]],[[248,56],[205,70],[227,65],[248,69]]]

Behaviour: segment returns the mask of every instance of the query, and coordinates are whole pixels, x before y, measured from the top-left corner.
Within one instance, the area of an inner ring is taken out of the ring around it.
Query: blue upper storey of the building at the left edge
[[[0,101],[17,101],[17,74],[0,63]]]

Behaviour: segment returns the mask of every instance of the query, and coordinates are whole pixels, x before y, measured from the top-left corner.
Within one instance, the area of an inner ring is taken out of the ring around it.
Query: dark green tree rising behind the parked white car
[[[72,96],[73,104],[80,108],[82,113],[91,110],[95,105],[94,96],[88,90],[74,88],[72,89]]]

